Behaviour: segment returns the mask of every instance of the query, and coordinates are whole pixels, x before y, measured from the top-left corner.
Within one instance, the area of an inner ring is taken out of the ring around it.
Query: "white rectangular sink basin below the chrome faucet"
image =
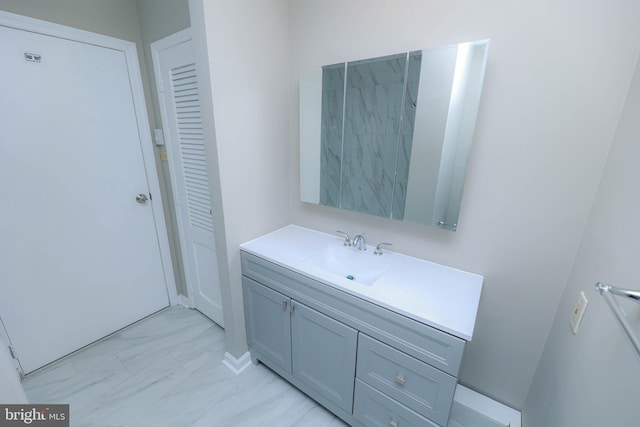
[[[372,250],[329,244],[308,256],[303,264],[363,285],[371,286],[389,268],[389,263]]]

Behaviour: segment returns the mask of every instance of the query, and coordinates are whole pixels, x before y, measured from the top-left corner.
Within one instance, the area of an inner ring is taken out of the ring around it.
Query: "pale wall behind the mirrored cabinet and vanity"
[[[638,57],[640,3],[293,0],[289,13],[293,222],[483,274],[460,380],[522,408]],[[300,69],[486,38],[456,233],[298,201]]]

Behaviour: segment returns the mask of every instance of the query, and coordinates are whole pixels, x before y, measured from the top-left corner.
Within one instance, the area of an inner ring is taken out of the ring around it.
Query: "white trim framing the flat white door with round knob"
[[[149,116],[145,102],[142,74],[140,71],[140,62],[138,60],[136,44],[130,41],[117,39],[115,37],[79,30],[77,28],[5,11],[0,11],[0,26],[113,49],[121,51],[125,55],[136,122],[138,124],[140,150],[145,168],[145,176],[147,178],[149,192],[153,195],[153,201],[151,201],[150,204],[153,212],[156,238],[160,249],[165,288],[169,304],[172,306],[178,304],[178,293],[175,276],[173,274],[171,252],[169,250],[169,237],[164,217],[162,193],[160,191],[160,182],[153,151],[153,139],[151,137]]]

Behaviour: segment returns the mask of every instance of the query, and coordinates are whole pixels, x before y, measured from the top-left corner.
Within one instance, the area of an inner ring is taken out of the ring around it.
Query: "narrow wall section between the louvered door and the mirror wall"
[[[226,264],[227,351],[239,357],[247,351],[239,245],[290,218],[287,1],[192,0],[190,6],[194,32],[204,26],[206,33],[206,47],[196,48],[208,54],[215,123],[206,123],[204,134],[208,165],[218,169],[210,176],[219,176],[214,209],[224,218],[216,239],[226,240],[218,254]],[[218,178],[212,178],[215,193]]]

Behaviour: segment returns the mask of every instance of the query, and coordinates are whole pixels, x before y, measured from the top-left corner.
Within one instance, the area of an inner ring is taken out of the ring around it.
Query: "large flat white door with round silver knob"
[[[136,119],[146,111],[127,55],[1,25],[0,40],[0,314],[28,373],[166,307],[168,294],[159,194],[136,201],[151,198]]]

